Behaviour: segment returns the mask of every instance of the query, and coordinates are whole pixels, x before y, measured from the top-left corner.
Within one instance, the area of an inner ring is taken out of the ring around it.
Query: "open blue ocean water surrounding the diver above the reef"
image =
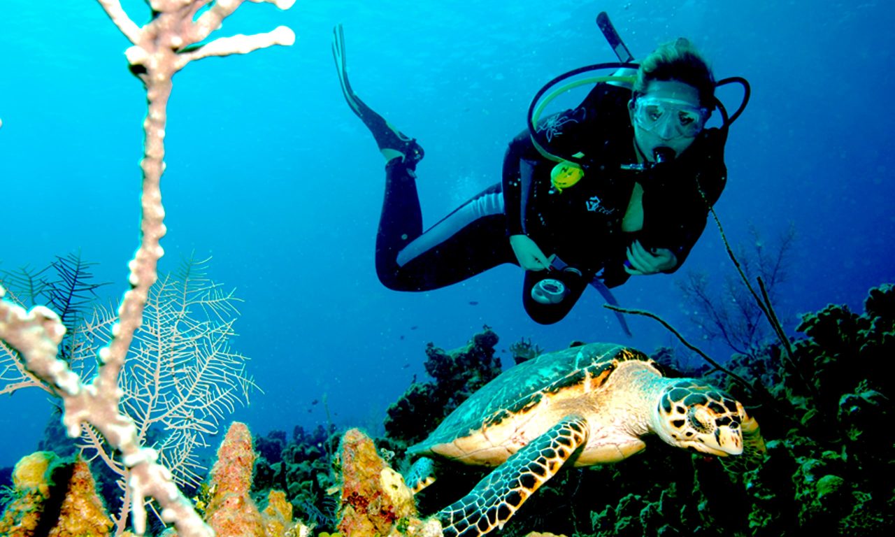
[[[145,3],[123,4],[134,21],[147,20]],[[210,255],[209,277],[244,301],[234,346],[251,357],[264,393],[234,419],[261,434],[330,420],[375,432],[388,404],[422,379],[427,342],[464,345],[483,325],[501,349],[522,337],[546,349],[572,340],[677,346],[641,318],[629,319],[627,338],[592,291],[566,320],[537,325],[522,310],[515,267],[422,294],[381,286],[373,241],[383,162],[339,90],[329,48],[339,22],[354,89],[426,149],[418,184],[429,224],[499,181],[507,141],[546,81],[614,60],[594,24],[605,10],[635,55],[686,36],[719,78],[752,83],[716,209],[734,243],[753,240],[750,226],[769,239],[796,227],[777,304],[788,326],[827,303],[860,311],[870,287],[895,280],[890,3],[473,4],[299,0],[280,12],[246,3],[217,35],[285,24],[295,45],[204,59],[176,75],[161,269]],[[98,263],[98,281],[113,283],[108,298],[126,288],[145,115],[128,45],[89,0],[0,3],[0,269],[80,251]],[[721,97],[736,107],[736,92]],[[710,223],[677,274],[635,277],[615,294],[698,343],[675,282],[688,270],[720,277],[729,268]],[[43,434],[52,405],[33,392],[0,401],[0,466]],[[329,417],[315,404],[324,400]]]

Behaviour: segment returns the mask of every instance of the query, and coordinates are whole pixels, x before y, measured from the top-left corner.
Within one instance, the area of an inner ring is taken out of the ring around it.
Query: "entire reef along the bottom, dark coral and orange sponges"
[[[782,358],[780,345],[764,345],[760,352],[734,356],[727,364],[737,375],[759,380],[773,397],[772,404],[762,399],[762,405],[752,409],[768,439],[762,463],[731,463],[652,443],[643,456],[617,465],[559,473],[500,534],[890,534],[895,527],[891,485],[895,482],[891,465],[895,432],[885,424],[892,419],[892,379],[878,370],[883,360],[895,354],[895,286],[871,290],[861,314],[831,305],[805,314],[798,329],[805,337],[793,342],[791,363]],[[469,345],[451,353],[429,345],[427,371],[434,380],[425,388],[442,394],[440,400],[446,405],[458,405],[484,379],[499,373],[499,362],[493,359],[496,343],[497,336],[486,328]],[[667,348],[656,357],[680,365]],[[478,359],[482,359],[481,367],[473,368]],[[718,371],[708,373],[708,379],[726,385],[737,397],[750,396],[746,388]],[[454,390],[450,396],[449,390]],[[402,414],[415,435],[426,434],[449,412],[431,405],[421,408],[437,420]],[[395,415],[390,419],[395,427],[402,426],[394,422]],[[321,536],[436,536],[438,523],[421,519],[414,503],[423,513],[433,512],[447,505],[447,498],[465,494],[482,475],[482,470],[451,466],[439,475],[437,486],[414,499],[388,463],[393,454],[383,447],[403,446],[405,437],[380,439],[377,448],[372,439],[350,430],[337,450],[332,433],[331,428],[310,432],[296,428],[286,439],[285,432],[274,431],[254,442],[263,454],[259,457],[248,429],[234,423],[204,486],[205,519],[218,535],[304,536],[311,535],[311,528],[295,520],[294,513],[311,517],[317,510],[316,516],[325,521],[315,532]],[[400,451],[394,462],[401,462]],[[81,464],[86,472],[86,464]],[[66,467],[70,469],[58,470]],[[89,500],[90,495],[63,491],[55,503],[47,500],[54,490],[61,490],[58,482],[80,482],[81,490],[93,490],[89,473],[71,468],[52,454],[23,460],[14,472],[15,499],[0,519],[0,534],[35,534],[47,520],[42,516],[47,508],[38,506],[48,505],[56,506],[54,513],[88,513],[81,518],[98,524],[86,534],[107,534],[111,523],[95,493]],[[337,506],[327,505],[335,499],[328,492],[337,490],[332,468],[341,475],[338,523],[334,520]],[[67,477],[61,480],[57,475]],[[263,512],[255,505],[264,505]],[[52,516],[54,521],[57,518]],[[550,533],[532,533],[533,529]]]

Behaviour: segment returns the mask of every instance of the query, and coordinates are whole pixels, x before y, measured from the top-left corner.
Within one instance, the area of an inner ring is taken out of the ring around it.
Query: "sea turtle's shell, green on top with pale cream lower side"
[[[590,417],[591,408],[575,408],[576,401],[599,391],[618,363],[632,360],[661,374],[649,357],[623,345],[593,343],[541,354],[491,380],[407,452],[499,465],[570,409]]]

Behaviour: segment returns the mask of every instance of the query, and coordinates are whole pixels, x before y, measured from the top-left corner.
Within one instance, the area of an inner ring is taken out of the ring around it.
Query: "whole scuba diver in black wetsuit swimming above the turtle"
[[[501,183],[425,231],[415,183],[422,146],[354,93],[337,26],[333,55],[345,100],[386,158],[376,238],[383,285],[427,291],[513,263],[525,271],[525,311],[550,324],[567,315],[589,284],[614,302],[608,287],[683,264],[724,189],[724,143],[746,106],[748,85],[738,77],[722,81],[740,82],[746,91],[729,117],[714,97],[711,69],[689,41],[679,38],[631,64],[601,17],[622,63],[587,66],[545,86],[529,111],[529,129],[509,143]],[[615,74],[591,79],[596,84],[578,107],[543,120],[533,112],[558,81],[607,68]],[[715,108],[723,124],[706,128]]]

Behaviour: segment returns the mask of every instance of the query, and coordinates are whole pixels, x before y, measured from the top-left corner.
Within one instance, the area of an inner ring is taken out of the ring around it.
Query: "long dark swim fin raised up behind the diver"
[[[336,72],[345,101],[354,114],[360,117],[363,124],[370,129],[379,146],[379,151],[385,156],[386,161],[402,158],[406,165],[411,168],[415,167],[425,154],[422,146],[416,143],[415,139],[389,124],[384,117],[364,104],[352,90],[351,82],[348,81],[348,65],[345,62],[345,32],[342,30],[341,24],[337,24],[333,28],[333,59],[336,61]]]

